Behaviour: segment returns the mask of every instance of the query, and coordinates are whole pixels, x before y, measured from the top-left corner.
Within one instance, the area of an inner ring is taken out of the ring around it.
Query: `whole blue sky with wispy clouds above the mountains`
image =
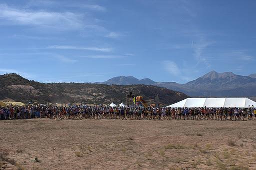
[[[0,74],[185,83],[256,73],[255,0],[1,0]]]

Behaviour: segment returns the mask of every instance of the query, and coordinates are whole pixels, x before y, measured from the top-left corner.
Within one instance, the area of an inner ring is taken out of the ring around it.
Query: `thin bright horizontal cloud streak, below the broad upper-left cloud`
[[[80,47],[80,46],[72,46],[72,45],[50,45],[47,48],[49,48],[49,49],[90,50],[90,51],[101,51],[101,52],[112,51],[112,48]]]

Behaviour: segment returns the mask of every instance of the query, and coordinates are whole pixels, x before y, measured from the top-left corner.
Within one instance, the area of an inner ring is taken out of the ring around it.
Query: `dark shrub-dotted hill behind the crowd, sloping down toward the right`
[[[146,82],[146,81],[145,81]],[[151,85],[105,85],[91,83],[39,83],[17,74],[0,75],[0,100],[38,103],[115,104],[124,102],[129,92],[141,95],[149,104],[158,94],[163,105],[178,102],[188,96]]]

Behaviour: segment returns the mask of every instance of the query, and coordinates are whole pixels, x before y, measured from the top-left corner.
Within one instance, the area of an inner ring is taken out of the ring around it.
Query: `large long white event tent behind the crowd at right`
[[[169,105],[171,108],[195,108],[195,107],[207,107],[207,108],[220,108],[220,107],[237,107],[248,108],[256,107],[256,102],[248,98],[186,98],[177,103]]]

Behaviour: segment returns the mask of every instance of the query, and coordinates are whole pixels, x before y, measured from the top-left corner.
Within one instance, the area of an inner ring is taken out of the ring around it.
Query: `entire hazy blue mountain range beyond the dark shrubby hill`
[[[256,96],[256,74],[236,75],[232,72],[209,73],[185,84],[175,82],[155,82],[148,78],[136,79],[132,76],[111,78],[101,84],[131,85],[146,84],[180,91],[193,97],[250,97]]]

